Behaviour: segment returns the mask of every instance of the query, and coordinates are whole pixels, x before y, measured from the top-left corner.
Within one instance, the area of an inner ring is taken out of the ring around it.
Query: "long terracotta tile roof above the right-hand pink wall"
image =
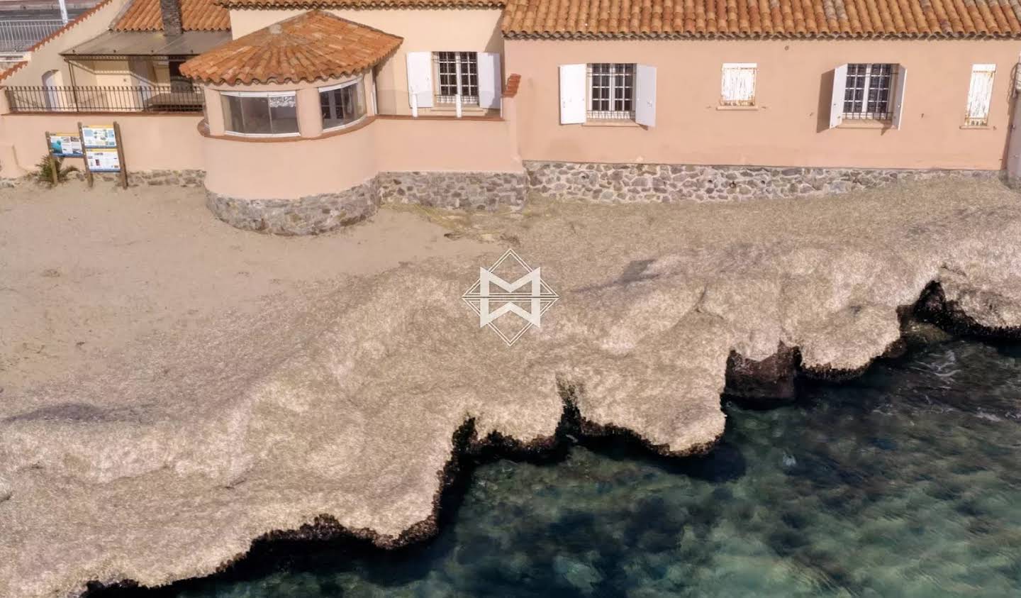
[[[506,0],[507,37],[1017,37],[1018,0]]]

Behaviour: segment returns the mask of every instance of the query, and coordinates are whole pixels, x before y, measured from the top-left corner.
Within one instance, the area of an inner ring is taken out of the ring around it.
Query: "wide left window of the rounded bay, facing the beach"
[[[224,127],[236,135],[297,135],[297,99],[293,91],[221,92]]]

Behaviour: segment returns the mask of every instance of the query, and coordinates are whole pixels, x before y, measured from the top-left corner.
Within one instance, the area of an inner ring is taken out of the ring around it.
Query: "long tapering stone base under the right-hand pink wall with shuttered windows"
[[[528,190],[602,203],[732,201],[845,193],[903,181],[995,178],[999,171],[526,162]]]

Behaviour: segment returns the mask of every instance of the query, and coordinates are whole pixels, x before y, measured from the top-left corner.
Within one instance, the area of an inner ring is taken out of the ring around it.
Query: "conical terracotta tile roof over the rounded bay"
[[[376,64],[402,38],[311,10],[271,25],[181,65],[206,83],[250,84],[347,77]]]

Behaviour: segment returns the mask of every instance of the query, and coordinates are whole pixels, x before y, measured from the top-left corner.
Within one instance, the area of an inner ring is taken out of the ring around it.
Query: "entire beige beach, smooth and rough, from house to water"
[[[466,420],[539,445],[565,389],[590,429],[706,450],[732,352],[860,370],[931,281],[1021,325],[1021,204],[989,181],[384,209],[315,238],[233,230],[198,190],[2,193],[0,596],[207,574],[320,514],[411,540]],[[459,298],[508,246],[562,297],[512,348]]]

